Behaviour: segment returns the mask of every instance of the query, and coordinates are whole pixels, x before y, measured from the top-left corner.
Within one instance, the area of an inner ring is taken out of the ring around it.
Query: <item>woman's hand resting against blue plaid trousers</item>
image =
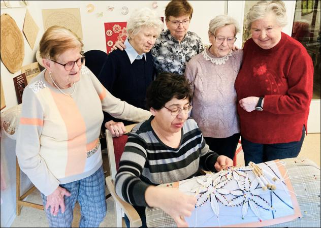
[[[65,212],[65,201],[63,196],[70,197],[71,193],[65,188],[57,187],[49,196],[47,196],[46,210],[50,207],[50,213],[56,216],[61,208],[61,213]]]

